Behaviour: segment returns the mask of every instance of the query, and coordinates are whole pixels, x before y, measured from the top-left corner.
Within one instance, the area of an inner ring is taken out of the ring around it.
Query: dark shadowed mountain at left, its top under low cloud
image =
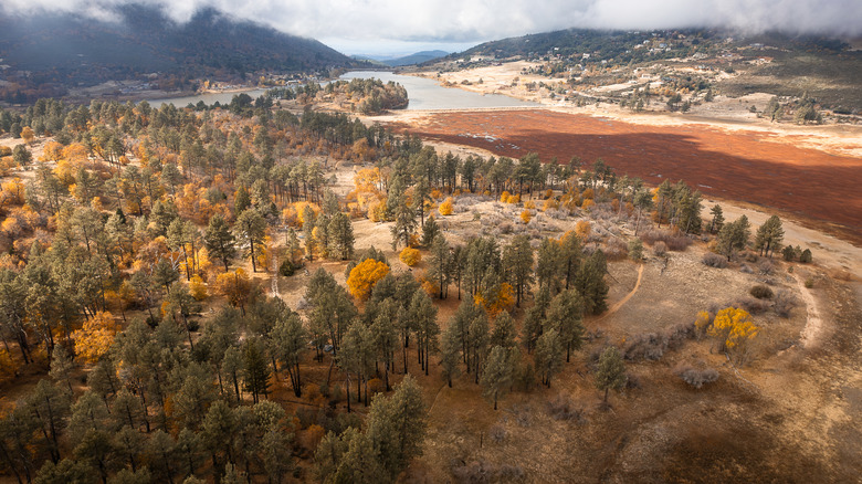
[[[116,22],[73,14],[0,17],[4,73],[35,83],[91,85],[145,73],[183,78],[357,66],[323,43],[236,20],[213,9],[177,23],[144,4],[116,7]]]

